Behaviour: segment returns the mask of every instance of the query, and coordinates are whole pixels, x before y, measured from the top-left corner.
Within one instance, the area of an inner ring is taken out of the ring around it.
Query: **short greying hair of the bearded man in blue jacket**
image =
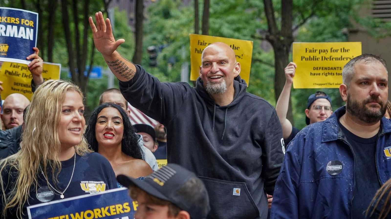
[[[384,68],[386,68],[386,72],[388,74],[386,60],[384,60],[383,58],[381,58],[380,56],[377,56],[377,55],[362,54],[362,55],[359,55],[358,57],[352,58],[343,67],[343,69],[342,69],[342,82],[346,86],[349,87],[350,81],[352,81],[353,75],[355,73],[354,65],[356,64],[356,62],[360,62],[360,61],[363,61],[363,62],[376,62],[376,61],[380,62],[381,64],[383,64]]]

